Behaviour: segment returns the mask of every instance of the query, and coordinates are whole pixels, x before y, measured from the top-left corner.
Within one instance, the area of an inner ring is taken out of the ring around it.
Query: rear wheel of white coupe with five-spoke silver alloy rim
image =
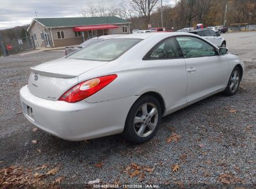
[[[148,95],[141,96],[131,106],[125,121],[123,137],[136,144],[149,141],[156,134],[161,117],[162,110],[158,99]]]

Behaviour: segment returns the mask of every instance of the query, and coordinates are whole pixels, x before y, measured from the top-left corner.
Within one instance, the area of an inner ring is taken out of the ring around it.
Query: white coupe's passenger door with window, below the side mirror
[[[215,47],[197,37],[176,37],[187,71],[187,102],[225,88],[229,62]]]

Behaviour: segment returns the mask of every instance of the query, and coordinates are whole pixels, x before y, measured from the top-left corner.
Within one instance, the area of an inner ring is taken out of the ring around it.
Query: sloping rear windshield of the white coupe
[[[108,39],[81,48],[67,58],[81,60],[111,61],[120,57],[141,39]]]

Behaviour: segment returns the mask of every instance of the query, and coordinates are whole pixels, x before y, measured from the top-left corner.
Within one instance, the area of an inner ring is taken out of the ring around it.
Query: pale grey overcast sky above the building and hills
[[[122,0],[0,0],[0,30],[30,24],[36,17],[80,17],[82,9],[92,4],[120,4]],[[159,1],[160,4],[160,1]],[[174,0],[163,0],[173,5]]]

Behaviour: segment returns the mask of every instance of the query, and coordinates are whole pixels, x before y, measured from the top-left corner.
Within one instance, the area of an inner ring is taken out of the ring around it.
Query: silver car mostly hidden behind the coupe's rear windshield
[[[73,53],[77,50],[79,50],[80,48],[83,48],[87,45],[93,44],[97,41],[100,40],[105,40],[105,39],[110,39],[111,37],[114,36],[120,36],[120,35],[125,35],[125,34],[113,34],[113,35],[101,35],[100,37],[93,37],[92,39],[88,39],[85,42],[83,42],[82,44],[78,45],[78,46],[69,46],[65,48],[65,55],[69,55],[70,53]]]

